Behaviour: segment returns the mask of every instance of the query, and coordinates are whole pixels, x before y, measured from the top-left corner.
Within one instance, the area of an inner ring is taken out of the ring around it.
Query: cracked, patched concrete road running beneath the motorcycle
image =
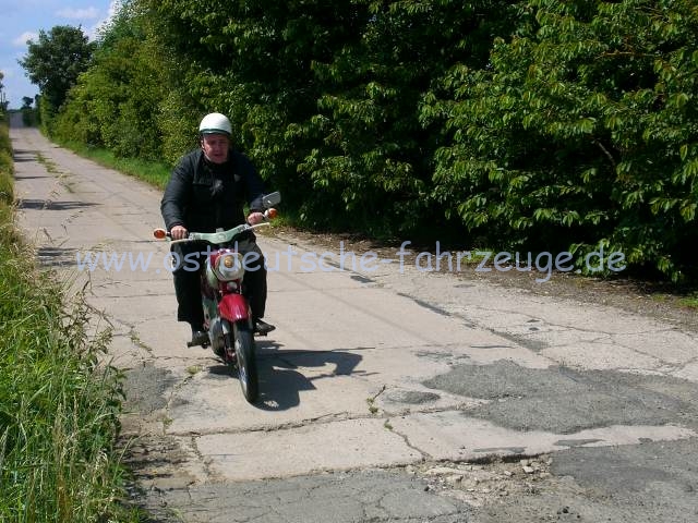
[[[251,405],[185,346],[160,193],[14,123],[20,224],[113,329],[152,521],[698,519],[695,332],[270,230]]]

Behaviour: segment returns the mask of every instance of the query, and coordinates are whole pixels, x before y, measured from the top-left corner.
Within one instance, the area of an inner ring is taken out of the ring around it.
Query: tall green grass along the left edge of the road
[[[110,333],[34,265],[12,216],[0,198],[0,521],[136,522],[116,449],[120,378],[98,363]]]

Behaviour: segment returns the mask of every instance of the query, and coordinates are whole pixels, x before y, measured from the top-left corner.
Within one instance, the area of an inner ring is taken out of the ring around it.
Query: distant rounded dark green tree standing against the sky
[[[49,113],[57,111],[77,76],[87,70],[94,45],[82,28],[57,25],[39,32],[38,42],[29,40],[27,53],[20,60],[32,83],[41,92]]]

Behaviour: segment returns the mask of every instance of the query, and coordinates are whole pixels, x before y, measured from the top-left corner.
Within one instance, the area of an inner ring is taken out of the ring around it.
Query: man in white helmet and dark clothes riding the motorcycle
[[[264,183],[250,159],[232,149],[232,126],[224,114],[206,114],[198,126],[200,148],[180,159],[172,171],[160,202],[165,227],[172,240],[182,240],[189,231],[215,232],[240,223],[264,221]],[[250,212],[244,217],[244,204]],[[252,231],[238,242],[241,254],[258,257],[245,266],[244,294],[250,303],[255,331],[266,335],[274,326],[263,321],[266,305],[266,268],[262,251]],[[172,271],[177,294],[177,319],[192,329],[190,345],[208,341],[201,301],[201,271],[206,266],[206,245],[201,242],[172,245],[176,263]]]

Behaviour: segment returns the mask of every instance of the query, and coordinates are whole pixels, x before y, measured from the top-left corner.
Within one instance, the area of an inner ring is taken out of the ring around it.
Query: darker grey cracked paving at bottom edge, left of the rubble
[[[426,482],[395,472],[333,472],[245,484],[212,483],[158,492],[152,511],[169,521],[167,507],[191,522],[338,523],[365,521],[466,523],[462,501],[435,496]]]

